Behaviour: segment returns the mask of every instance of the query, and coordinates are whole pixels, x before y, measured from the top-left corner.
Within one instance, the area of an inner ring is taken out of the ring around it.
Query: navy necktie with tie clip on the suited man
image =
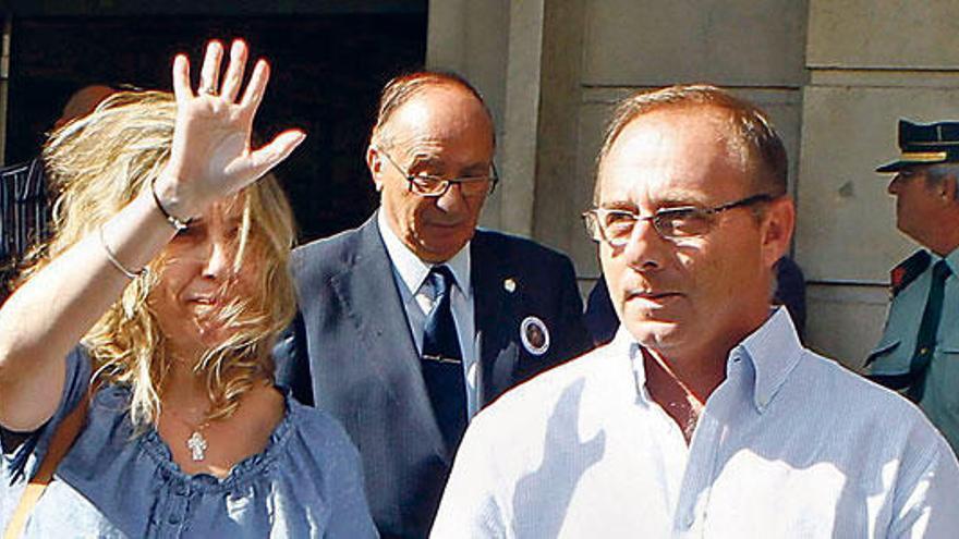
[[[421,368],[426,392],[451,452],[466,430],[466,384],[463,380],[463,354],[450,308],[454,282],[447,266],[435,266],[427,277],[435,296],[423,332]]]

